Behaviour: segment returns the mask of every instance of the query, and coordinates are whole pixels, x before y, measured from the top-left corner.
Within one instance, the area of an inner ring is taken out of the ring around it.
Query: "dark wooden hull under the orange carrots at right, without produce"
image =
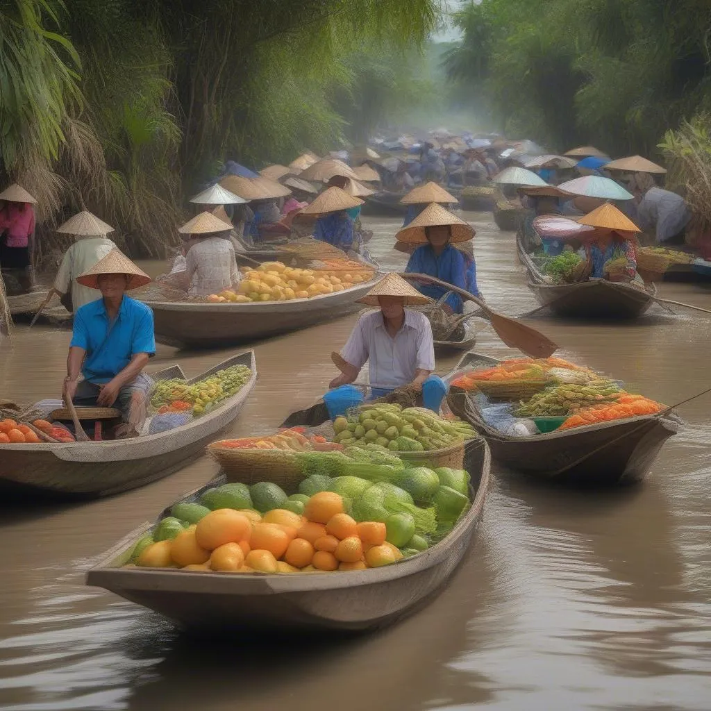
[[[447,378],[452,380],[464,368],[490,367],[498,362],[486,355],[467,353]],[[673,414],[646,415],[532,437],[509,437],[484,422],[469,393],[454,388],[448,401],[452,410],[486,439],[498,464],[546,481],[581,486],[641,481],[664,442],[683,424]]]

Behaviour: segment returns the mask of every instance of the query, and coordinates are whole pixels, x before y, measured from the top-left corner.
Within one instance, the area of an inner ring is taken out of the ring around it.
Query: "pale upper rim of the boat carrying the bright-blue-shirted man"
[[[252,391],[252,387],[254,387],[255,382],[257,380],[257,364],[256,364],[256,359],[255,359],[255,351],[252,349],[249,349],[247,351],[242,351],[241,353],[236,353],[235,355],[230,356],[230,358],[226,358],[225,360],[221,361],[218,363],[218,365],[214,365],[212,368],[208,368],[208,370],[204,370],[202,373],[198,373],[198,375],[193,376],[193,378],[186,378],[186,383],[192,384],[195,383],[197,380],[201,380],[202,378],[208,377],[209,375],[213,375],[214,373],[217,373],[218,370],[223,370],[224,368],[229,368],[231,365],[247,365],[247,363],[242,363],[242,362],[235,362],[235,361],[243,361],[245,360],[245,357],[249,358],[249,364],[248,367],[250,368],[251,375],[250,379],[247,380],[245,385],[242,385],[240,387],[240,390],[235,392],[235,395],[232,395],[232,397],[229,397],[227,400],[225,400],[220,407],[215,408],[215,410],[211,412],[205,413],[202,417],[199,419],[191,420],[191,422],[188,422],[186,424],[182,424],[179,427],[173,427],[173,429],[169,429],[166,432],[156,432],[155,434],[146,434],[142,435],[141,437],[132,437],[131,439],[109,439],[109,440],[102,440],[101,442],[38,442],[38,443],[25,443],[25,444],[2,444],[0,443],[0,453],[2,451],[11,451],[11,452],[18,452],[18,451],[26,451],[30,454],[33,453],[38,453],[38,454],[54,454],[57,459],[61,459],[63,461],[75,461],[77,464],[88,464],[88,463],[99,463],[102,461],[110,462],[110,461],[116,461],[114,456],[108,456],[108,455],[117,455],[119,454],[119,451],[122,449],[132,449],[132,447],[135,447],[137,442],[140,442],[141,444],[141,449],[144,449],[144,444],[155,444],[156,442],[159,442],[161,439],[168,439],[166,435],[171,435],[173,436],[174,434],[181,433],[185,434],[186,432],[190,432],[191,430],[195,431],[197,429],[205,429],[203,425],[208,424],[209,422],[212,422],[214,419],[220,418],[220,415],[225,415],[226,412],[230,410],[230,408],[237,407],[239,405],[242,405],[242,403],[249,397],[250,392]],[[178,368],[178,370],[181,370],[182,368],[180,365],[173,364],[170,365],[168,368],[162,368],[161,370],[156,371],[156,373],[147,373],[147,375],[151,376],[156,376],[160,375],[161,373],[169,373],[171,370]],[[183,374],[184,377],[184,374]],[[162,378],[159,378],[161,380]],[[221,418],[220,418],[221,419]],[[218,430],[220,427],[218,427]],[[215,430],[215,431],[218,431]],[[198,439],[201,439],[201,437],[204,437],[205,435],[202,434],[198,437],[195,437],[195,439],[188,439],[183,442],[182,446],[186,446],[188,444],[192,444],[193,442],[196,442]],[[90,450],[87,450],[87,444],[90,445]],[[173,448],[175,449],[175,448]],[[118,451],[117,451],[118,450]],[[75,457],[71,456],[71,454],[77,452],[77,451],[92,451],[96,452],[97,454],[102,454],[102,456],[97,456],[95,459],[76,459]],[[173,451],[172,449],[166,450],[166,451]],[[137,457],[130,457],[128,459],[121,459],[120,461],[129,461],[129,459],[147,459],[149,457],[153,456],[159,456],[161,454],[160,451],[151,451],[149,454],[146,454],[144,456],[137,456]]]

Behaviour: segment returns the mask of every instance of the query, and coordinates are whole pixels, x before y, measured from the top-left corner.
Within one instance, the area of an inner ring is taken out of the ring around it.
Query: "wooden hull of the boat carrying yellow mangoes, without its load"
[[[291,301],[254,301],[250,304],[210,304],[204,301],[152,301],[156,338],[161,343],[188,348],[218,348],[277,333],[298,331],[363,308],[356,304],[380,279],[342,292]]]

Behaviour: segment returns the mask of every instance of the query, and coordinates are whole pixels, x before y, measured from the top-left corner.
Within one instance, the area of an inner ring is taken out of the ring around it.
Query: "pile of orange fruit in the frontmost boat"
[[[140,567],[218,572],[331,572],[394,563],[402,553],[385,540],[385,524],[356,523],[343,498],[331,491],[311,496],[301,516],[276,508],[219,508],[196,525],[146,547]]]

